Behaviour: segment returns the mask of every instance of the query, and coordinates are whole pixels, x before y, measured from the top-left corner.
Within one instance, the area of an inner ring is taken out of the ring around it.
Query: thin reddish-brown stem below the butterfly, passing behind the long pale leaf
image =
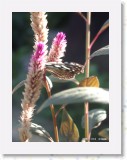
[[[49,87],[49,85],[48,85],[47,80],[45,81],[45,88],[46,88],[48,97],[51,97],[51,89],[50,89],[50,87]],[[55,116],[55,110],[54,110],[53,104],[50,105],[50,110],[51,110],[52,119],[53,119],[55,141],[56,141],[56,142],[59,142],[58,127],[57,127],[56,116]]]

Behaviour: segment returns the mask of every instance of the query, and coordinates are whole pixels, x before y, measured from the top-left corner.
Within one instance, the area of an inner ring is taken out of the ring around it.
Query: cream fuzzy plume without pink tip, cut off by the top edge
[[[36,49],[36,43],[37,42],[43,42],[45,45],[48,42],[48,31],[47,29],[47,15],[45,12],[31,12],[31,27],[34,31],[35,36],[35,46],[34,49]],[[47,46],[45,46],[47,47]]]

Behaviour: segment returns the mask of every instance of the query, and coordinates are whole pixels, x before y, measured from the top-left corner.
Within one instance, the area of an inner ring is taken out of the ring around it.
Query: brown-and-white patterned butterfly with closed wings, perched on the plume
[[[72,79],[84,72],[84,66],[75,62],[48,62],[46,71],[59,79]]]

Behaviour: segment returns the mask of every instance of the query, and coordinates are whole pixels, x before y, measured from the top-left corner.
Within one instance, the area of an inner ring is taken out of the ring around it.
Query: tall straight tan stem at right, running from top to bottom
[[[90,24],[91,24],[91,12],[87,12],[87,23],[86,23],[86,78],[89,77],[89,71],[90,71]],[[89,137],[89,103],[86,102],[84,104],[84,121],[85,121],[85,138],[86,142],[90,141]]]

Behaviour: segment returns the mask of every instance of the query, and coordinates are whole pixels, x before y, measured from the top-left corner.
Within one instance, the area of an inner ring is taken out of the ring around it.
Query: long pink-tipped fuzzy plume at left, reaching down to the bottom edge
[[[32,55],[28,75],[25,83],[25,90],[23,92],[21,107],[21,128],[19,129],[20,140],[27,142],[31,137],[30,125],[33,116],[35,103],[40,97],[42,88],[42,78],[45,67],[45,48],[42,42],[38,42],[36,51]]]

